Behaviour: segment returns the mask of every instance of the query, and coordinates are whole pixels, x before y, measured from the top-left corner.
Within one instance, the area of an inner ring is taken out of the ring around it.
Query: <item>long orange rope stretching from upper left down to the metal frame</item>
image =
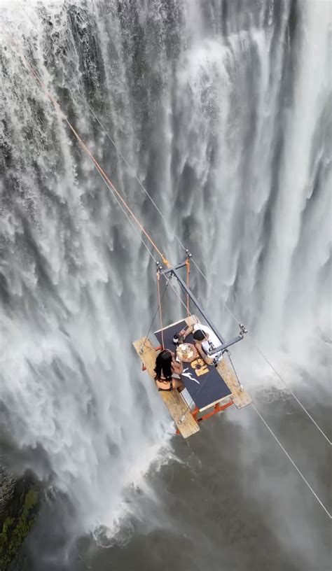
[[[118,190],[116,190],[116,187],[113,185],[113,183],[111,182],[111,180],[109,179],[109,177],[106,175],[106,172],[102,169],[102,167],[100,166],[99,162],[97,162],[97,160],[95,159],[95,157],[92,155],[90,149],[85,145],[85,143],[83,142],[83,140],[81,139],[81,137],[78,135],[78,133],[76,132],[76,130],[74,129],[74,127],[71,125],[71,123],[69,122],[69,120],[67,119],[66,115],[64,115],[60,105],[57,103],[56,99],[53,97],[53,95],[48,92],[46,85],[43,83],[43,81],[41,80],[41,78],[39,77],[38,73],[36,73],[36,71],[34,71],[34,68],[32,67],[31,64],[29,64],[27,58],[25,57],[24,54],[22,54],[22,58],[25,60],[25,64],[27,64],[27,67],[29,68],[29,70],[31,71],[32,75],[34,76],[34,78],[38,81],[39,85],[41,85],[43,91],[46,93],[46,96],[48,97],[48,99],[50,99],[50,101],[53,103],[53,105],[55,106],[55,108],[57,108],[61,113],[62,116],[65,120],[65,122],[67,123],[69,129],[71,129],[71,131],[74,133],[74,135],[76,136],[76,139],[78,140],[78,143],[80,143],[81,147],[83,148],[83,150],[85,150],[85,153],[87,153],[90,157],[90,159],[92,160],[93,164],[95,164],[95,167],[97,168],[97,170],[99,171],[100,174],[102,174],[103,178],[105,179],[105,181],[109,184],[109,186],[111,187],[111,189],[116,193],[118,199],[120,199],[120,201],[122,202],[123,206],[125,206],[125,209],[127,209],[127,212],[130,213],[130,216],[132,216],[132,218],[134,218],[134,221],[137,223],[137,225],[139,226],[141,232],[143,232],[146,236],[146,238],[148,239],[148,241],[150,242],[150,244],[153,246],[153,248],[155,248],[155,251],[158,253],[158,255],[160,255],[160,258],[162,259],[162,262],[167,265],[167,267],[170,267],[170,263],[167,261],[167,259],[165,258],[165,256],[162,254],[162,252],[160,251],[160,249],[158,248],[158,246],[155,244],[155,242],[153,241],[153,239],[149,236],[148,232],[146,232],[145,228],[143,225],[141,225],[141,223],[139,222],[138,218],[136,218],[136,216],[134,215],[134,213],[132,212],[132,210],[130,210],[130,207],[127,205],[127,202],[125,202],[125,200],[123,199],[123,197],[120,195],[120,192],[118,192]]]

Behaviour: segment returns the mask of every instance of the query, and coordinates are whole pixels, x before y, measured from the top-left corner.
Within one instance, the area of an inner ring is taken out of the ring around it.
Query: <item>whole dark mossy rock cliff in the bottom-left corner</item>
[[[32,476],[15,479],[0,466],[0,571],[6,571],[18,556],[38,505],[39,493]]]

